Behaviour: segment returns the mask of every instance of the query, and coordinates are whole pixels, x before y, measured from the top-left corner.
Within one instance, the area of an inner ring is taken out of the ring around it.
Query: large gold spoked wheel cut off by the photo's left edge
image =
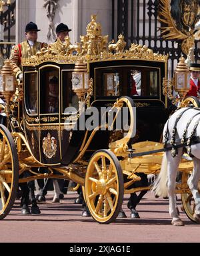
[[[9,130],[0,124],[0,219],[4,219],[15,202],[19,181],[19,161]]]

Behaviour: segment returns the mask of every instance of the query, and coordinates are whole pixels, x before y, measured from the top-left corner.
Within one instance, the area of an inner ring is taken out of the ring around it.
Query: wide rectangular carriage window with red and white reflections
[[[95,96],[159,96],[159,73],[155,68],[115,67],[95,72]]]

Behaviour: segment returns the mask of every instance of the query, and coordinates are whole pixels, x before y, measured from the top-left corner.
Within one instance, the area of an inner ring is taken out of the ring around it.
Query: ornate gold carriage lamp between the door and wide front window
[[[85,105],[85,94],[89,90],[89,74],[87,65],[83,63],[83,59],[78,59],[75,63],[75,69],[72,73],[72,90],[79,98],[79,110]]]

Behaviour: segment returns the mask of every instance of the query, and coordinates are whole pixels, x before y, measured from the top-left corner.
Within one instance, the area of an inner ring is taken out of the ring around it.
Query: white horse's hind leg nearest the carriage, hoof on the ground
[[[179,162],[182,156],[182,149],[178,151],[178,155],[174,158],[171,156],[171,152],[167,151],[167,190],[169,195],[169,215],[172,217],[171,224],[174,226],[183,226],[183,222],[179,218],[177,213],[176,197],[175,197],[175,186],[177,178],[177,170]]]

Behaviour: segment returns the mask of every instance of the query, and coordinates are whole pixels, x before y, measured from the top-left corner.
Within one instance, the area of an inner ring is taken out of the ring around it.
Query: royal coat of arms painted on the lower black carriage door
[[[51,137],[51,134],[48,132],[47,137],[43,138],[43,153],[47,158],[51,159],[55,156],[57,151],[57,140],[54,137]]]

